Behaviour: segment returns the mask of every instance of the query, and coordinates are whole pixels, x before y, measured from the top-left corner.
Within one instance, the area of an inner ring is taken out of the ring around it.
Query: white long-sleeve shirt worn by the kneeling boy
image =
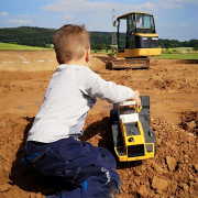
[[[103,80],[88,67],[59,65],[51,78],[28,141],[51,143],[81,135],[80,128],[96,97],[113,103],[132,99],[134,91]]]

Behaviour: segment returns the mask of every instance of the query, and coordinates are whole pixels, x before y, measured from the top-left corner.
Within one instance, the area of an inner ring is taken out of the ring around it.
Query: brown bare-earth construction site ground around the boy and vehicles
[[[103,79],[138,89],[151,99],[157,154],[119,163],[119,198],[198,197],[198,64],[152,59],[150,69],[112,70],[112,56],[91,54],[90,68]],[[57,67],[55,53],[0,52],[0,197],[43,198],[56,184],[26,169],[21,158],[45,89]],[[110,148],[112,105],[97,100],[81,141]]]

